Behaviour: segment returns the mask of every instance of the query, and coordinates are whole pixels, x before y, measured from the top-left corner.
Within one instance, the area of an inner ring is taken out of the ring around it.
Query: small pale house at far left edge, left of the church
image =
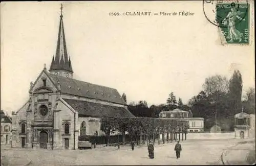
[[[10,144],[12,139],[12,119],[1,110],[1,144]]]

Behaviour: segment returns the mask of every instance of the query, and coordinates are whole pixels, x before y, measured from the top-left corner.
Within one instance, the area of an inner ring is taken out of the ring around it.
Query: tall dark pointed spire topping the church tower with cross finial
[[[68,52],[66,46],[66,39],[64,33],[64,26],[63,26],[63,15],[62,15],[62,4],[61,4],[61,13],[60,13],[60,21],[59,21],[59,33],[58,33],[58,41],[57,41],[57,48],[55,59],[52,59],[52,63],[50,66],[51,70],[67,70],[68,72],[73,73],[73,69],[71,66],[71,61],[68,59]]]

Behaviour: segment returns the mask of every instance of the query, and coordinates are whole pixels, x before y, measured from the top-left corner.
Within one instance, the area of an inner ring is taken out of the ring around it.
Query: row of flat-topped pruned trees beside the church
[[[173,120],[167,118],[150,118],[150,117],[102,117],[101,118],[101,130],[108,137],[107,146],[109,144],[109,138],[111,134],[122,134],[126,132],[130,135],[130,140],[136,140],[138,145],[148,145],[149,140],[153,140],[153,143],[158,137],[158,144],[160,144],[160,134],[162,134],[162,143],[166,141],[172,141],[177,139],[186,139],[187,129],[189,127],[188,121],[186,120]],[[181,137],[182,134],[182,137]],[[170,135],[170,138],[169,138]],[[124,139],[125,137],[122,136]],[[142,139],[143,138],[143,139]],[[125,140],[120,140],[124,144]],[[118,148],[119,142],[118,141]]]

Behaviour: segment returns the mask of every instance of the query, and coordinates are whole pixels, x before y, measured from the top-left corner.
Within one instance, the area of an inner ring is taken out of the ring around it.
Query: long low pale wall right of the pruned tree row
[[[187,133],[187,140],[191,139],[233,139],[234,132],[226,133]]]

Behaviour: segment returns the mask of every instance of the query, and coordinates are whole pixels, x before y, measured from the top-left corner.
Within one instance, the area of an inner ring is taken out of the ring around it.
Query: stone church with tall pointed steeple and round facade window
[[[78,137],[104,134],[101,117],[134,117],[119,92],[73,78],[62,5],[55,57],[30,83],[29,99],[12,112],[12,148],[78,149]]]

